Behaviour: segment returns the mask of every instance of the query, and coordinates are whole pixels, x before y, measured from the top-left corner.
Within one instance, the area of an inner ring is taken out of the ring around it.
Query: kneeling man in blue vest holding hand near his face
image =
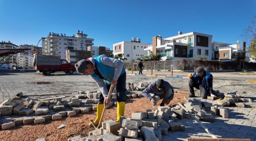
[[[195,97],[194,87],[200,90],[200,96],[203,99],[207,99],[207,96],[215,96],[213,90],[213,75],[204,68],[199,66],[196,68],[196,72],[189,75],[189,97]]]

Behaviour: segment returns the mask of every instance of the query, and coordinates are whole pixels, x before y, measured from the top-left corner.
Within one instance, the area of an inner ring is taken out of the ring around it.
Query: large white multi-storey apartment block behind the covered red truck
[[[66,59],[67,50],[87,50],[88,46],[94,45],[94,39],[87,38],[88,35],[78,30],[76,35],[51,33],[47,38],[42,38],[42,52],[60,53],[61,59]]]

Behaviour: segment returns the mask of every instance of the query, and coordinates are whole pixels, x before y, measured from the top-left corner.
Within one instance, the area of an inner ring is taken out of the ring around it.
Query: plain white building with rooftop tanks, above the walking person
[[[133,60],[140,60],[140,58],[148,55],[146,48],[148,48],[148,43],[141,43],[140,38],[132,38],[132,41],[122,41],[119,43],[113,44],[113,55],[116,56],[117,54],[124,54],[123,58],[126,58],[125,61],[133,61]]]

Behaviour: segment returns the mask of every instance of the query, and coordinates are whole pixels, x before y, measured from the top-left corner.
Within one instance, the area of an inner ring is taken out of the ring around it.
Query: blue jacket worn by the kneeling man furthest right
[[[202,86],[208,95],[210,95],[210,93],[213,93],[213,75],[207,71],[204,72],[205,74],[203,76]],[[195,82],[197,82],[199,81],[200,76],[198,76],[197,73],[194,73],[192,78],[195,79]]]

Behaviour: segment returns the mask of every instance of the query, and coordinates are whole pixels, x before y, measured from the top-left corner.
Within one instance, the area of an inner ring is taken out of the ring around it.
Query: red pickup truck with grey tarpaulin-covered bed
[[[43,73],[43,75],[49,76],[54,72],[65,72],[66,74],[73,74],[76,70],[75,65],[67,62],[67,60],[60,59],[58,53],[49,54],[34,54],[33,58],[34,68],[37,72]]]

